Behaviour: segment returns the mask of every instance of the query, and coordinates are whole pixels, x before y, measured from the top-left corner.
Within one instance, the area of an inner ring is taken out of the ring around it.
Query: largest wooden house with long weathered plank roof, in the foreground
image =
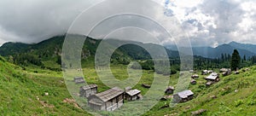
[[[124,90],[114,87],[88,97],[88,106],[94,110],[113,111],[124,104]]]

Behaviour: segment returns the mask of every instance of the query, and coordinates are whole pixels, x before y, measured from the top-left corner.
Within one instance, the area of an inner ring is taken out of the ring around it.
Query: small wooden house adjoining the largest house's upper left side
[[[89,97],[91,95],[95,95],[97,93],[97,85],[90,84],[80,87],[79,94],[81,97]]]

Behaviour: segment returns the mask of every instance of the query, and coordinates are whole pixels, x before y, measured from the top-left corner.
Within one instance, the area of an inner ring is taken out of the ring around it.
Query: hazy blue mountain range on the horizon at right
[[[166,46],[168,49],[177,50],[176,45],[168,45]],[[241,57],[246,55],[248,57],[252,57],[256,55],[256,45],[253,44],[239,44],[236,42],[232,42],[230,44],[222,44],[216,48],[212,47],[193,47],[193,55],[201,55],[206,58],[218,58],[221,57],[222,54],[231,55],[237,49]]]

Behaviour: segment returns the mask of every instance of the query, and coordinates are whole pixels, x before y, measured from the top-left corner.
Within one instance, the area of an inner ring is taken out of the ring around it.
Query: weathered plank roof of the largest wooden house
[[[119,96],[124,93],[124,90],[119,89],[118,87],[114,87],[112,89],[103,91],[102,93],[98,93],[96,95],[90,96],[91,97],[98,97],[102,100],[102,102],[108,102],[109,100],[113,99],[116,96]]]

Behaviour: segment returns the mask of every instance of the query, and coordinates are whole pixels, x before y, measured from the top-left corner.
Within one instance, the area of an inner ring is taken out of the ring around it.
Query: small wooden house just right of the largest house
[[[125,90],[125,100],[136,101],[142,99],[141,90]]]

